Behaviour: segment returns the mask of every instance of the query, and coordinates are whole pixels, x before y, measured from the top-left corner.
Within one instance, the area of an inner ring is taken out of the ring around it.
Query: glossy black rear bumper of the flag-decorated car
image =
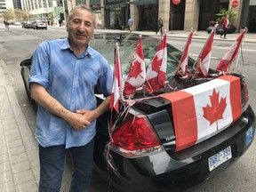
[[[111,157],[108,161],[112,163],[109,169],[109,181],[122,192],[161,192],[189,188],[235,163],[251,146],[255,126],[255,115],[249,106],[227,130],[175,154],[164,151],[151,156],[129,159],[110,150]],[[252,140],[245,140],[245,134],[249,129],[252,131]],[[228,146],[231,147],[232,157],[210,172],[208,158]]]

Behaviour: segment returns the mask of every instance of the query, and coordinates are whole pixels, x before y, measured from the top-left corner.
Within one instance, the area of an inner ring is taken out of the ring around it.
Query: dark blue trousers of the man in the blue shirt
[[[40,192],[59,192],[65,167],[67,152],[74,165],[70,192],[84,192],[92,177],[94,139],[82,147],[65,148],[64,145],[43,148],[39,146]]]

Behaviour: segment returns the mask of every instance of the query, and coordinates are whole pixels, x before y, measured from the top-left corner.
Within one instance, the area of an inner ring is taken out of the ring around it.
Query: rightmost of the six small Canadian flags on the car
[[[223,59],[220,60],[219,65],[217,66],[216,70],[220,70],[223,72],[228,72],[232,61],[236,60],[236,55],[239,50],[239,47],[243,41],[245,34],[247,33],[247,28],[244,29],[242,34],[237,37],[236,41],[231,45],[228,52],[224,55]]]

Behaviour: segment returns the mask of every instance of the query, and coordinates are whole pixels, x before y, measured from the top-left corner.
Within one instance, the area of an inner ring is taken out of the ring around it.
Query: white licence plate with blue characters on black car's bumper
[[[209,163],[209,170],[212,172],[213,169],[220,166],[220,164],[223,164],[224,162],[228,161],[232,157],[231,153],[231,147],[228,146],[228,148],[224,148],[219,153],[211,156],[208,158]]]

